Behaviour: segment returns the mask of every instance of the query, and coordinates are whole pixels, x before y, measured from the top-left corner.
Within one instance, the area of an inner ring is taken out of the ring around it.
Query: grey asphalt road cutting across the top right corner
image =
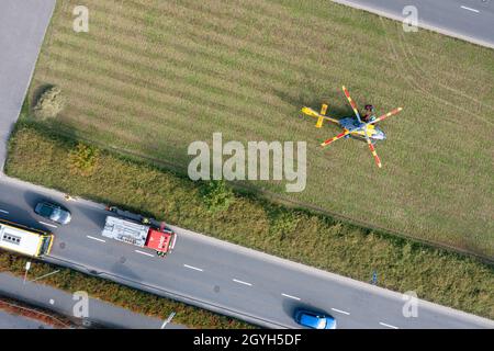
[[[333,0],[402,21],[417,8],[418,26],[494,48],[494,0]]]

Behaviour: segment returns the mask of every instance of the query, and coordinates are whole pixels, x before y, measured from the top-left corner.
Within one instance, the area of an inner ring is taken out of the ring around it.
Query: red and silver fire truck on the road
[[[155,250],[159,257],[165,257],[173,249],[177,234],[167,228],[165,223],[159,224],[155,219],[125,213],[116,207],[106,210],[116,216],[106,216],[101,233],[103,237]]]

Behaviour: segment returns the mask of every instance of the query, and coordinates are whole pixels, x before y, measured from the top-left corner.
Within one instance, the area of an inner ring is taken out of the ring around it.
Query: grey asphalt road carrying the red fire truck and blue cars
[[[494,328],[492,320],[418,303],[418,317],[404,317],[404,301],[374,285],[323,272],[173,227],[176,249],[161,259],[101,236],[108,212],[83,200],[0,179],[0,217],[56,235],[47,261],[176,298],[271,328],[294,328],[297,307],[324,310],[339,328]],[[32,211],[40,200],[63,203],[72,213],[53,227]]]

